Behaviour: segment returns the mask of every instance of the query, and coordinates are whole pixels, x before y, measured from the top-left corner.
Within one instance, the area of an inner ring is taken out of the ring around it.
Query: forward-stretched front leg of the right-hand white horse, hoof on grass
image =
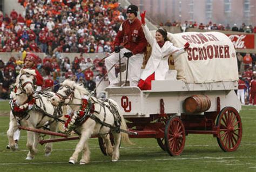
[[[82,130],[80,140],[77,143],[75,152],[69,159],[69,163],[75,164],[77,162],[78,154],[84,149],[85,142],[91,137],[91,134],[92,129]]]

